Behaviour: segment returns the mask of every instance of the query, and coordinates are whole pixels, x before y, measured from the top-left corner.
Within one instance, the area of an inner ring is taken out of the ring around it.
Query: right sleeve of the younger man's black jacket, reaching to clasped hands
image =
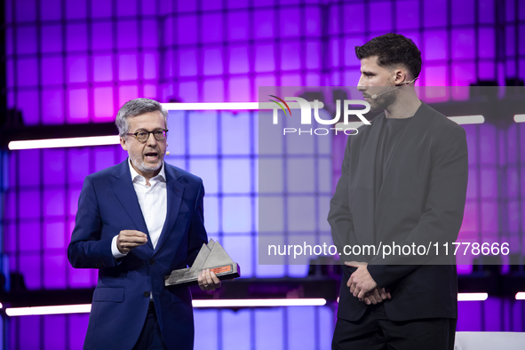
[[[423,256],[382,254],[370,259],[368,271],[378,283],[386,287],[392,282],[410,274],[423,264],[454,263],[453,256],[446,256],[443,243],[455,242],[465,211],[466,185],[468,179],[468,149],[465,129],[456,127],[437,142],[433,166],[428,184],[425,211],[418,225],[410,234],[395,244],[424,245],[430,252]],[[440,251],[436,254],[434,243]]]

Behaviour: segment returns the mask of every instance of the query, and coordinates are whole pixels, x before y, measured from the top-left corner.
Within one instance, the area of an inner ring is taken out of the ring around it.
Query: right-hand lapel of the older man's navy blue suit
[[[177,220],[180,203],[182,202],[182,194],[184,193],[185,188],[185,186],[179,182],[179,176],[175,169],[166,163],[164,163],[164,167],[164,174],[166,175],[168,208],[166,211],[166,219],[164,220],[163,231],[161,232],[159,241],[155,246],[154,255],[161,250],[163,244],[166,243],[168,236],[171,234],[171,227],[175,225],[175,221]],[[176,250],[177,247],[173,247],[173,251]]]

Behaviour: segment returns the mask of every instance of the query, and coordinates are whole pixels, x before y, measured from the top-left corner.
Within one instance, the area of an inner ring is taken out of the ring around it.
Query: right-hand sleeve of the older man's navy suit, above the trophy
[[[203,243],[208,243],[208,235],[204,228],[204,187],[203,181],[199,185],[197,198],[195,201],[194,213],[188,231],[187,239],[187,266],[192,266],[197,254],[201,251]]]

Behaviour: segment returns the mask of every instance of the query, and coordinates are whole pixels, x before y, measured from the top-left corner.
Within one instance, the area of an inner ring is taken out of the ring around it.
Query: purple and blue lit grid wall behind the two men
[[[359,77],[354,45],[388,31],[409,36],[423,52],[420,85],[460,86],[478,80],[504,85],[505,78],[525,79],[525,5],[518,0],[453,3],[6,0],[8,107],[20,109],[27,125],[102,123],[112,121],[118,107],[136,97],[255,101],[263,85],[354,85]],[[452,90],[435,100],[467,97]],[[199,123],[199,118],[214,123]],[[252,189],[257,171],[252,156],[257,141],[250,116],[199,114],[180,125],[172,115],[171,120],[180,131],[171,133],[168,161],[204,178],[211,236],[231,249],[249,246],[256,251]],[[228,141],[234,126],[236,135],[243,135],[235,141],[243,147]],[[208,129],[196,132],[203,128]],[[465,129],[469,144],[476,145],[470,147],[470,183],[477,185],[469,185],[469,214],[461,235],[519,240],[525,150],[518,151],[517,145],[525,144],[524,131],[521,125],[505,131],[488,124]],[[335,139],[334,163],[343,148]],[[24,274],[29,289],[94,285],[96,272],[72,269],[65,249],[84,176],[123,157],[117,146],[4,155],[4,253],[10,270]],[[228,182],[232,172],[243,176]],[[505,186],[497,176],[508,179]],[[502,203],[508,218],[488,215]],[[238,207],[249,208],[248,219],[227,220]],[[251,253],[239,260],[249,276],[304,271],[266,270]],[[458,330],[523,330],[523,302],[511,304],[460,303],[460,316],[465,316]],[[505,322],[491,322],[494,315]],[[206,342],[198,345],[211,349],[234,344],[318,349],[330,347],[333,314],[327,307],[197,310],[195,322],[202,325],[197,338]],[[20,317],[9,329],[10,344],[80,348],[86,324],[85,314]],[[229,329],[243,337],[234,337]],[[268,333],[274,338],[266,338]]]

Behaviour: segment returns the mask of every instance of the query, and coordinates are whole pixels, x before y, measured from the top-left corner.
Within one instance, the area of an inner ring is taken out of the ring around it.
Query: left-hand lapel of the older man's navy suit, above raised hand
[[[151,244],[151,239],[149,238],[149,232],[147,232],[146,221],[140,210],[139,199],[137,199],[137,194],[135,193],[135,188],[133,187],[133,182],[131,180],[131,172],[129,160],[126,159],[123,163],[120,164],[112,174],[112,188],[115,192],[116,197],[119,202],[122,204],[125,211],[131,218],[131,221],[135,224],[135,227],[138,231],[144,232],[147,235],[147,246],[153,251],[153,245]],[[130,227],[131,229],[132,227]],[[140,246],[136,249],[143,249],[144,246]]]

